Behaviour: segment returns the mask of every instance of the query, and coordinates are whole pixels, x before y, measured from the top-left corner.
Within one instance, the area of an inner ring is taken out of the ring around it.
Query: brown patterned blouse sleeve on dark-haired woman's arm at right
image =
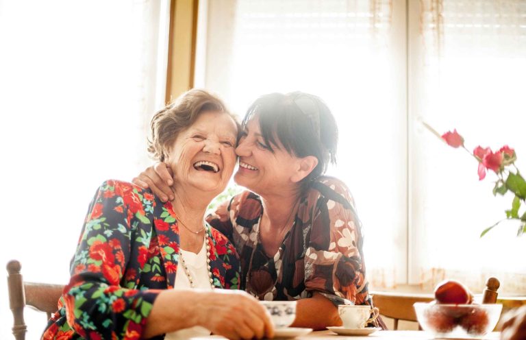
[[[334,304],[371,304],[365,281],[362,232],[347,186],[336,179],[314,183],[308,197],[312,213],[305,253],[305,287]],[[348,303],[348,302],[347,302]]]

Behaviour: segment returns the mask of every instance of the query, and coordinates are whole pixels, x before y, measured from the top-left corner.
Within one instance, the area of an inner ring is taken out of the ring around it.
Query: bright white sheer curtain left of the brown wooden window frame
[[[25,280],[65,284],[97,186],[131,180],[149,165],[168,5],[0,1],[2,268],[16,258]],[[0,338],[9,339],[5,280],[0,285]],[[27,339],[37,339],[45,315],[26,318]]]

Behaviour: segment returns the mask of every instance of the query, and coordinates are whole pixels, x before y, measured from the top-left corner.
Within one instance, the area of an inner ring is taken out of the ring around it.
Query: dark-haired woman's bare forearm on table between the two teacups
[[[296,319],[291,326],[322,330],[327,326],[342,326],[342,320],[338,308],[325,296],[314,292],[312,298],[298,300]]]

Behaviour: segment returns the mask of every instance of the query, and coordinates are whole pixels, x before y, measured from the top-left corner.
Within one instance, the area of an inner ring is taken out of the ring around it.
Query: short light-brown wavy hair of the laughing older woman
[[[183,93],[153,115],[148,138],[148,152],[152,158],[164,162],[168,147],[173,145],[179,132],[190,127],[199,114],[205,111],[225,112],[234,120],[239,132],[237,117],[226,109],[223,101],[205,90],[195,88]]]

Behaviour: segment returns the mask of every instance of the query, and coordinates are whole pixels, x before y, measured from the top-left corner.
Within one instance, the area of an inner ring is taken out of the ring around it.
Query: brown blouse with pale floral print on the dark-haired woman
[[[260,300],[310,298],[318,291],[334,304],[349,300],[372,305],[365,279],[362,226],[343,182],[327,176],[312,182],[273,257],[257,241],[262,214],[260,197],[245,191],[207,217],[240,254],[242,289]]]

